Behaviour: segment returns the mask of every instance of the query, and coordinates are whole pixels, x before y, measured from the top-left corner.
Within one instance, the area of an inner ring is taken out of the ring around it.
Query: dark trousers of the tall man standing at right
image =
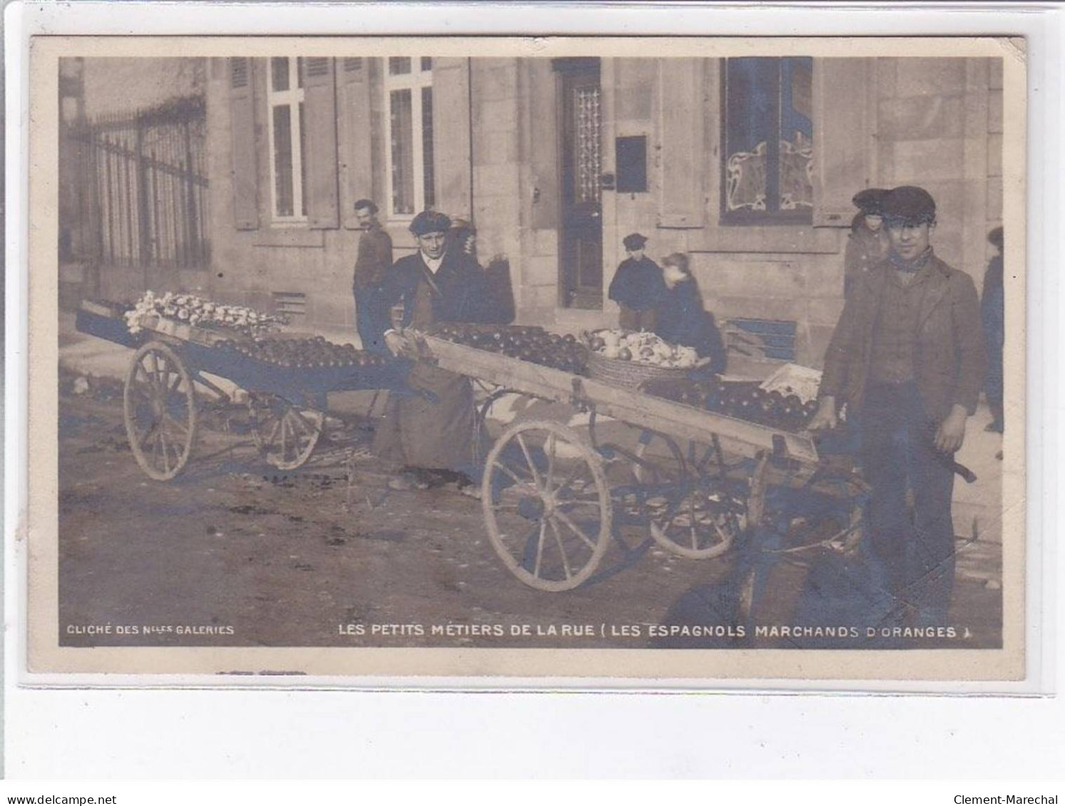
[[[954,584],[954,471],[934,447],[915,383],[870,384],[861,413],[862,461],[872,487],[874,578],[917,626],[946,624]]]

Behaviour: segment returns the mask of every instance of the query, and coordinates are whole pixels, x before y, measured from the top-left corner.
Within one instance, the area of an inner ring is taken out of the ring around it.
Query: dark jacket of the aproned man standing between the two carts
[[[436,286],[432,297],[432,319],[437,322],[490,321],[491,310],[485,293],[485,272],[473,256],[448,250],[436,274],[431,274],[422,259],[421,251],[400,257],[393,264],[381,284],[379,302],[384,314],[380,321],[389,321],[392,306],[403,303],[403,324],[410,324],[413,298],[419,280],[429,273]],[[382,334],[383,335],[383,331]]]

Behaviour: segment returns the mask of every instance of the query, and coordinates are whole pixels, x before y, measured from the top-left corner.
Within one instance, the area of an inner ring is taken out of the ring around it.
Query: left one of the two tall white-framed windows
[[[269,151],[276,221],[306,221],[304,60],[269,60]]]

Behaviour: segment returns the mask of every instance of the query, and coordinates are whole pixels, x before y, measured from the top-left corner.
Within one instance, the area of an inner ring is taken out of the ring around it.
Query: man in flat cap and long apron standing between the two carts
[[[443,213],[420,213],[410,225],[417,251],[396,261],[381,285],[378,320],[388,321],[387,312],[403,304],[402,326],[380,334],[395,355],[411,351],[408,328],[429,331],[439,322],[482,319],[482,272],[472,255],[449,248],[450,224]],[[478,458],[473,455],[475,417],[469,379],[419,362],[408,373],[407,387],[412,393],[389,396],[374,437],[378,455],[403,468],[389,486],[468,484]]]

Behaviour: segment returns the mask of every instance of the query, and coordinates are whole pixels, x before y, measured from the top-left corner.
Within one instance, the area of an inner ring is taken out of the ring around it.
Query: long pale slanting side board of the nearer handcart
[[[597,414],[669,434],[707,442],[717,434],[725,447],[744,456],[772,450],[773,437],[784,439],[788,456],[803,464],[817,464],[817,448],[807,434],[775,431],[757,423],[705,412],[643,392],[610,386],[602,381],[541,367],[498,353],[425,337],[425,346],[437,366],[457,374],[477,377],[508,389],[561,403],[574,402],[574,381],[583,399],[594,403]]]

